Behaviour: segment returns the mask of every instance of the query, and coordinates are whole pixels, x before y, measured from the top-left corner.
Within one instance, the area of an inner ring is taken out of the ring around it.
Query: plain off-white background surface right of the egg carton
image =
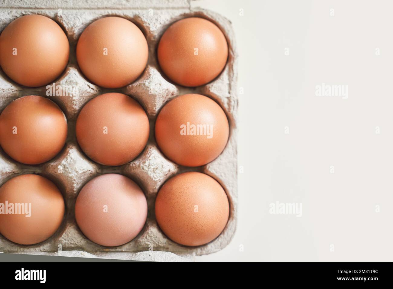
[[[232,22],[244,89],[237,231],[196,261],[393,261],[393,2],[193,6]],[[348,85],[348,99],[316,96],[322,83]],[[269,214],[276,201],[302,216]]]

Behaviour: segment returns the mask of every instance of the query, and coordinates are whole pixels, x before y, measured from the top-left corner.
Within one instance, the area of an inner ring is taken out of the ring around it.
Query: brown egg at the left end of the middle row
[[[0,145],[18,162],[46,162],[61,151],[66,138],[66,117],[48,98],[24,96],[0,114]]]

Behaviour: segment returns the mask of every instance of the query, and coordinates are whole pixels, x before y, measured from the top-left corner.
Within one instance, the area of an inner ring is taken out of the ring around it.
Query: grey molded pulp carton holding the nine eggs
[[[26,95],[46,96],[66,114],[68,136],[62,151],[50,161],[36,165],[20,164],[0,149],[0,185],[17,175],[35,173],[52,180],[61,190],[66,213],[57,232],[36,245],[18,245],[0,235],[0,252],[42,254],[59,250],[84,251],[105,257],[118,252],[168,251],[178,255],[203,255],[223,249],[231,241],[236,227],[237,214],[237,66],[236,50],[231,23],[221,15],[205,9],[191,8],[190,0],[123,0],[123,1],[48,1],[1,0],[0,31],[18,17],[39,14],[53,19],[66,31],[70,42],[70,59],[64,73],[55,83],[61,87],[77,86],[78,96],[47,96],[47,88],[22,87],[0,71],[0,111],[11,101]],[[143,74],[124,88],[105,89],[90,83],[79,70],[75,50],[79,35],[93,21],[107,16],[119,16],[134,22],[144,33],[149,45],[149,60]],[[161,35],[176,20],[185,17],[203,17],[215,23],[228,41],[228,62],[223,72],[211,83],[196,88],[186,88],[172,83],[160,71],[156,48]],[[50,84],[49,84],[50,85]],[[143,152],[123,166],[103,166],[90,160],[81,151],[75,136],[75,122],[85,103],[107,92],[120,92],[136,99],[145,109],[150,121],[150,135]],[[187,168],[179,166],[160,152],[154,139],[154,122],[157,113],[170,99],[187,93],[208,96],[226,112],[230,124],[228,144],[221,155],[211,163]],[[154,201],[158,190],[169,178],[185,171],[200,171],[216,179],[224,188],[230,203],[230,216],[223,232],[206,245],[187,247],[171,241],[157,225]],[[140,234],[132,241],[118,247],[103,247],[87,239],[75,222],[75,200],[81,188],[94,177],[104,173],[119,173],[139,184],[148,204],[147,221]],[[132,252],[132,253],[131,253]],[[116,255],[118,256],[118,255]],[[117,257],[118,258],[118,257]]]

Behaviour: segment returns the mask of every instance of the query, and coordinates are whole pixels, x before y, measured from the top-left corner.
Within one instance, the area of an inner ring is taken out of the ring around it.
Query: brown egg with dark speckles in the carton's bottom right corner
[[[224,230],[229,202],[220,184],[203,173],[176,175],[162,186],[156,198],[156,219],[176,243],[199,246]]]

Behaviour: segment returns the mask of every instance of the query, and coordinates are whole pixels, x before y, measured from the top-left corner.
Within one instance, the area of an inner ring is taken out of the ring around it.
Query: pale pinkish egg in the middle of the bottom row
[[[129,178],[105,174],[84,185],[75,203],[75,218],[83,234],[103,246],[128,243],[145,225],[147,202]]]

